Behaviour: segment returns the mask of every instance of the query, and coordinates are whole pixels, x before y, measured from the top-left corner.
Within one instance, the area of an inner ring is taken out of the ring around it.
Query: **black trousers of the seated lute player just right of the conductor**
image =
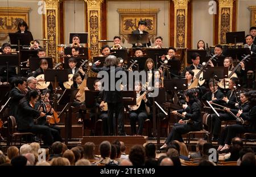
[[[138,134],[138,135],[142,135],[143,132],[143,125],[144,125],[144,120],[147,119],[147,113],[146,112],[140,112],[140,113],[136,113],[136,112],[131,112],[129,115],[130,118],[130,125],[131,125],[131,134]],[[138,132],[136,130],[136,121],[138,120]]]

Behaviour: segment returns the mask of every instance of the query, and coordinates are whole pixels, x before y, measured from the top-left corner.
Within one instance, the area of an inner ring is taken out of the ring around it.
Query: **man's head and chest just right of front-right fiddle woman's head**
[[[216,100],[216,99],[222,99],[224,97],[224,94],[221,92],[220,89],[218,89],[218,81],[214,81],[211,79],[208,83],[210,91],[206,92],[202,96],[202,100],[207,100],[208,102],[211,100]]]

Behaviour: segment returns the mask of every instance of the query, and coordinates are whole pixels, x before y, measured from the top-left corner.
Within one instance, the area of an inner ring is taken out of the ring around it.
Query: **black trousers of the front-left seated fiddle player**
[[[55,141],[62,141],[58,130],[49,128],[46,125],[32,125],[27,130],[20,130],[20,132],[31,132],[35,134],[42,134],[44,145],[51,146]]]

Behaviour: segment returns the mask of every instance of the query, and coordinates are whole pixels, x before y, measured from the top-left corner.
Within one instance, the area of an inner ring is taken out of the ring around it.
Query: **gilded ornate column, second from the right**
[[[190,0],[172,0],[174,2],[174,47],[187,47],[188,2]]]

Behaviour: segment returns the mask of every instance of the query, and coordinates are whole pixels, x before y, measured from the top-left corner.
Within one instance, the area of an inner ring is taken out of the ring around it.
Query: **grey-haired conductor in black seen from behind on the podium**
[[[100,61],[96,61],[92,65],[92,71],[98,73],[100,71],[106,71],[108,73],[108,81],[104,82],[104,102],[108,103],[108,125],[109,125],[109,135],[114,135],[114,112],[115,117],[118,119],[118,134],[125,135],[124,124],[123,124],[123,96],[119,88],[115,85],[118,78],[115,78],[115,74],[123,69],[118,67],[117,57],[109,55],[105,58],[105,66],[102,68],[97,68],[100,65]],[[104,72],[105,73],[105,72]],[[110,73],[113,73],[110,75]],[[112,77],[112,75],[114,77]],[[110,84],[113,83],[114,84]]]

